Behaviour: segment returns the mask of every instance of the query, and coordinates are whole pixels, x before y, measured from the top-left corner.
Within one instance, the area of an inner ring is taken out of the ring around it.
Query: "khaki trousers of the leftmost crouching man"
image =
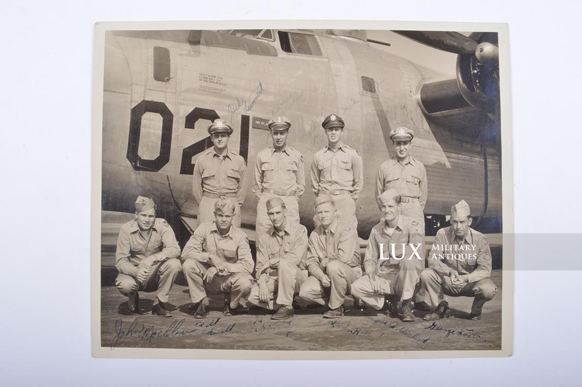
[[[143,282],[138,281],[137,278],[131,275],[119,273],[115,279],[115,286],[124,296],[133,296],[139,290],[143,292],[158,290],[158,300],[166,303],[180,269],[180,261],[177,258],[170,258],[153,265],[150,275]]]

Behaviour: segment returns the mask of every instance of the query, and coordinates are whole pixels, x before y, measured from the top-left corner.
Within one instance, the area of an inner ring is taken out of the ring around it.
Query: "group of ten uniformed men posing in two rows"
[[[451,225],[438,231],[425,259],[427,174],[409,155],[414,132],[398,127],[390,133],[396,153],[377,173],[380,221],[370,232],[362,262],[356,203],[363,164],[342,141],[345,122],[331,114],[321,124],[328,144],[311,162],[315,229],[310,235],[299,223],[304,160],[287,144],[291,126],[285,117],[270,120],[272,147],[260,151],[255,162],[255,261],[240,229],[246,165],[228,150],[229,123],[217,119],[208,126],[214,147],[198,158],[193,177],[200,225],[181,254],[172,228],[156,218],[154,201],[137,198],[136,219],[122,226],[116,250],[116,286],[127,296],[127,313],[143,313],[140,290],[157,290],[152,313],[169,317],[169,293],[182,271],[194,318],[207,317],[208,294],[224,294],[224,315],[253,305],[274,311],[272,319],[288,319],[300,299],[308,306],[327,306],[325,318],[339,318],[351,296],[356,309],[367,304],[404,322],[415,321],[413,308],[427,310],[425,320],[448,317],[445,295],[467,296],[474,297],[471,319],[481,319],[482,307],[497,292],[489,278],[487,238],[470,228],[470,207],[462,200],[452,206]]]

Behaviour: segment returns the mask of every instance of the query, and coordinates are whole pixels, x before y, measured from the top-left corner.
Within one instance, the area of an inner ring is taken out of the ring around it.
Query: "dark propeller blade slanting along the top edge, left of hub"
[[[450,31],[392,31],[404,37],[416,40],[419,43],[428,45],[442,51],[453,54],[475,55],[477,42],[458,32]]]

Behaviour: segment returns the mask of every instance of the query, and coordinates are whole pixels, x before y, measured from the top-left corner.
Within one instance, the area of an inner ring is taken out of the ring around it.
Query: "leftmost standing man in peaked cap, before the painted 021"
[[[247,166],[240,155],[228,150],[232,132],[229,123],[221,119],[214,120],[208,126],[214,147],[198,157],[194,165],[192,191],[198,203],[200,224],[214,221],[214,203],[224,196],[236,198],[233,223],[240,227],[240,207],[247,197],[244,179]]]

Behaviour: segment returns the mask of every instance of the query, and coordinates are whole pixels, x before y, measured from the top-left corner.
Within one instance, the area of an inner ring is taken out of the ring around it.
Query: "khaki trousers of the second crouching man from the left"
[[[253,285],[253,277],[248,273],[235,273],[227,275],[215,275],[211,282],[204,282],[210,264],[200,262],[194,259],[187,259],[182,264],[182,271],[188,289],[190,290],[190,300],[193,303],[200,302],[209,294],[220,294],[230,292],[230,307],[236,308],[240,299],[249,293]]]

